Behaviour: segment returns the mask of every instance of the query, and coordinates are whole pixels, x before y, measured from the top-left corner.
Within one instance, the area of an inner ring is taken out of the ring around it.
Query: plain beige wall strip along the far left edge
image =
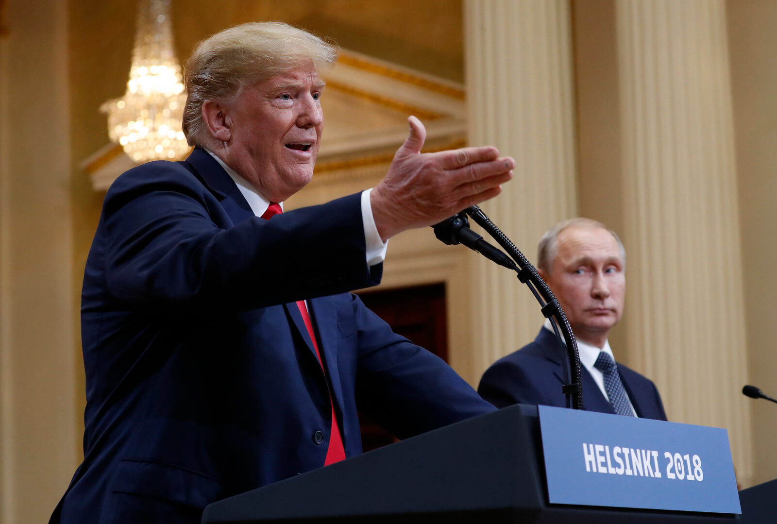
[[[0,37],[0,522],[46,522],[73,473],[66,5],[7,5]]]

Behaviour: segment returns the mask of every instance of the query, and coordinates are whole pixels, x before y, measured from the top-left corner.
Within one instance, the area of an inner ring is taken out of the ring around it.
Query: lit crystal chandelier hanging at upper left
[[[108,136],[135,162],[183,158],[181,130],[186,93],[172,48],[170,0],[141,0],[127,92],[100,107]]]

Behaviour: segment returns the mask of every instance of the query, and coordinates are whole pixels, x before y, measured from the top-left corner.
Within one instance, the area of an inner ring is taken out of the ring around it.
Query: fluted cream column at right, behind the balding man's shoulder
[[[616,0],[629,364],[673,421],[727,428],[751,476],[723,0]]]

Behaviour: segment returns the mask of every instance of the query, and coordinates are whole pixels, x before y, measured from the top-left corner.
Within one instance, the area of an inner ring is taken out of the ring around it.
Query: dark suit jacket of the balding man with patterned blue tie
[[[543,327],[534,342],[500,358],[486,370],[480,379],[478,393],[496,407],[515,403],[566,407],[566,396],[561,391],[565,355],[566,348],[556,335]],[[637,416],[667,420],[661,396],[650,379],[622,364],[618,364],[618,373]],[[580,366],[580,375],[584,409],[615,414],[584,366]]]

